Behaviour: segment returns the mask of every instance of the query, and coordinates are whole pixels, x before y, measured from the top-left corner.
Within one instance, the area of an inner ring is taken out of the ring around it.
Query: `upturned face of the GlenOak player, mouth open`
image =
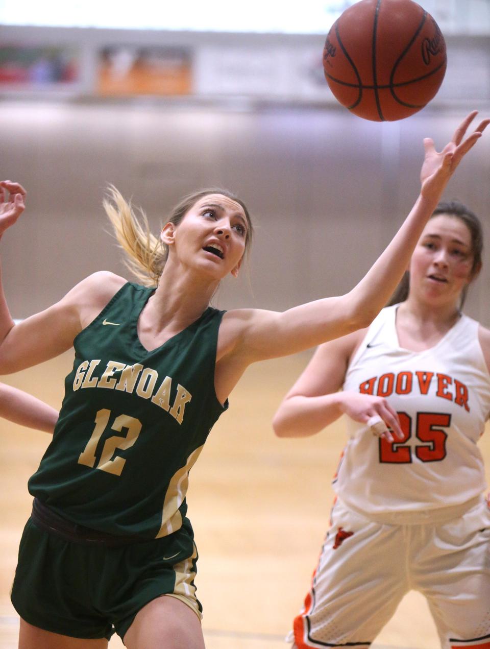
[[[175,226],[167,223],[162,240],[169,258],[198,269],[214,280],[238,271],[245,252],[247,218],[241,205],[222,194],[208,194],[190,208]]]

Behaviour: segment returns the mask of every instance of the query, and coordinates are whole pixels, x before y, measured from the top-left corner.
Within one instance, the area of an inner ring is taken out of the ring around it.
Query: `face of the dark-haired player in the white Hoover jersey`
[[[410,262],[410,292],[437,304],[458,304],[472,280],[472,241],[458,217],[439,214],[428,222]]]

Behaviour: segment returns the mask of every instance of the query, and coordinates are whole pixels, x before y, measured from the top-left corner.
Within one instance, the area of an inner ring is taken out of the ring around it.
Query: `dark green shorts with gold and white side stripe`
[[[75,638],[124,637],[136,613],[169,594],[201,618],[195,596],[197,549],[188,519],[173,534],[122,547],[67,541],[27,521],[12,604],[20,617]]]

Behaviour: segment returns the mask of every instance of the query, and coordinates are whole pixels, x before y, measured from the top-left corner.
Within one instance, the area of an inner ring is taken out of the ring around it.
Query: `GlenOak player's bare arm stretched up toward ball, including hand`
[[[308,302],[284,313],[260,310],[227,313],[224,322],[227,322],[228,340],[223,337],[224,354],[239,356],[245,366],[265,358],[294,354],[369,325],[408,267],[411,253],[449,178],[490,123],[485,119],[464,139],[475,116],[476,112],[472,112],[463,120],[441,152],[435,151],[432,140],[424,140],[421,193],[391,243],[352,291],[340,297]]]

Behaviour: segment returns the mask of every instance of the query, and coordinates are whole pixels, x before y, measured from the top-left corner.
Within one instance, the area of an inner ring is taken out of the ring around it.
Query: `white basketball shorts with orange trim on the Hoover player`
[[[369,648],[415,590],[428,600],[443,649],[490,649],[487,502],[477,498],[430,518],[380,522],[337,500],[312,590],[293,623],[293,646]]]

